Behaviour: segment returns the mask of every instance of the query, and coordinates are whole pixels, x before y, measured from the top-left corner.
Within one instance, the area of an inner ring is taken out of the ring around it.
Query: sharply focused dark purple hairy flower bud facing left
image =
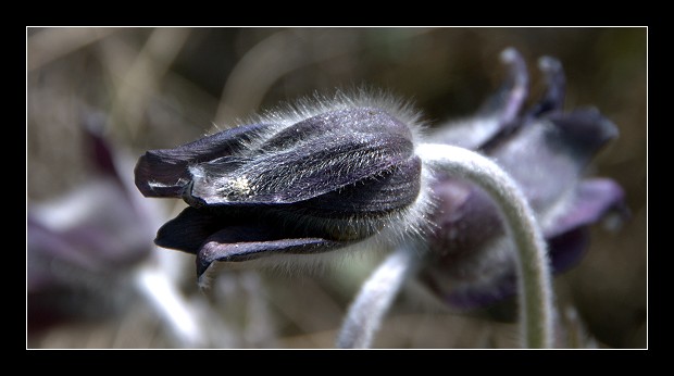
[[[387,230],[398,238],[398,220],[423,212],[424,174],[415,116],[382,103],[304,103],[148,151],[136,166],[138,189],[190,205],[155,243],[197,254],[201,276],[213,261],[321,253]]]

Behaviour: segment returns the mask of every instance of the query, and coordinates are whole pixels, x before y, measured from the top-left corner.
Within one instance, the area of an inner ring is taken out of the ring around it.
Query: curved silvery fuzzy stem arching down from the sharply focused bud
[[[517,251],[520,321],[526,348],[550,348],[553,340],[552,290],[547,247],[519,186],[496,163],[467,149],[421,145],[417,155],[452,177],[477,184],[497,203]]]

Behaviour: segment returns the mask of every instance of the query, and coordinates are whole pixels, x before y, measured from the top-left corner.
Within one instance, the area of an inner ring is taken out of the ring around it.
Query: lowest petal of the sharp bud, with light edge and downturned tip
[[[350,245],[321,238],[278,239],[274,231],[260,227],[228,227],[210,236],[197,255],[197,275],[201,277],[215,261],[244,262],[277,253],[312,254]]]

